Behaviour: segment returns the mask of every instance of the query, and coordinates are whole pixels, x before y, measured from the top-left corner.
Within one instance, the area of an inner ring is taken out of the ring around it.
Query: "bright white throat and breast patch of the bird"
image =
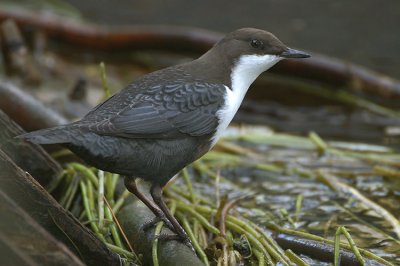
[[[278,63],[281,59],[277,55],[243,55],[236,62],[231,73],[232,88],[225,86],[225,104],[217,112],[219,125],[212,139],[211,147],[215,145],[223,131],[232,121],[250,85],[262,72]]]

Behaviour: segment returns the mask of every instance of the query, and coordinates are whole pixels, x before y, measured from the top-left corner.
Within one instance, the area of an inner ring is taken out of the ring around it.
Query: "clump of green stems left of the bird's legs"
[[[49,192],[61,190],[59,202],[65,209],[88,225],[124,263],[139,264],[138,256],[116,219],[116,211],[127,194],[116,197],[119,179],[119,175],[73,162],[66,165],[62,179],[57,186],[51,186]]]

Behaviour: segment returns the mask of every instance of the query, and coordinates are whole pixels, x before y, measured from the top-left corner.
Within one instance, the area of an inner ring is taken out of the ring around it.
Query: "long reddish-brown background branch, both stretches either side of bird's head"
[[[0,21],[9,18],[21,27],[37,28],[64,43],[111,52],[122,49],[159,49],[200,54],[223,37],[222,33],[193,27],[132,25],[129,28],[109,28],[23,11],[0,11]],[[318,54],[312,54],[307,60],[284,60],[271,71],[400,99],[398,80]]]

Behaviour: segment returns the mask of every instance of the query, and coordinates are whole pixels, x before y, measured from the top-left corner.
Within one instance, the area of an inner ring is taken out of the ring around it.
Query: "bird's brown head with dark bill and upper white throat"
[[[238,86],[247,90],[262,72],[280,60],[306,57],[310,55],[287,47],[268,31],[242,28],[228,33],[200,60],[208,62],[210,73],[225,69],[224,73],[230,73],[230,81],[238,81]]]

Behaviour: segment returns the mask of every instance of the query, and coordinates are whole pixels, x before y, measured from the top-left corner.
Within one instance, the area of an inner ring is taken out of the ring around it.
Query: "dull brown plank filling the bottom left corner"
[[[2,265],[84,265],[1,189],[0,213]]]

